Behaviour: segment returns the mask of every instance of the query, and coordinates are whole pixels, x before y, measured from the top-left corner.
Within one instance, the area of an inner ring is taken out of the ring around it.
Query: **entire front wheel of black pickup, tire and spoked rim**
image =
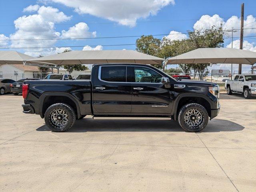
[[[206,127],[208,112],[200,104],[186,104],[180,109],[178,122],[185,131],[198,132]]]

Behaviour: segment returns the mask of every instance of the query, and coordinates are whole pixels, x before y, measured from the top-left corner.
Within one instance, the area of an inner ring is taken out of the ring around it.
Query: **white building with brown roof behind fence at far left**
[[[0,64],[0,78],[20,80],[22,78],[39,78],[39,69],[35,66],[21,64]]]

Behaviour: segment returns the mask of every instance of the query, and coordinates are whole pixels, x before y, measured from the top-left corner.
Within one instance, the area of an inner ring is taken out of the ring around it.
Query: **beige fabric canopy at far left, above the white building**
[[[0,51],[0,64],[23,64],[34,57],[16,51]]]

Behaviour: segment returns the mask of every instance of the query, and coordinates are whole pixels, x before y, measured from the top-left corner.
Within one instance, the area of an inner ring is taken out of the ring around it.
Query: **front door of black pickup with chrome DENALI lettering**
[[[172,98],[170,88],[161,83],[162,75],[146,66],[131,66],[132,113],[170,114]]]

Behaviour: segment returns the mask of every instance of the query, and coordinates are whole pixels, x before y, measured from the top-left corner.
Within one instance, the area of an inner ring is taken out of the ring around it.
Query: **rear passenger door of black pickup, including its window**
[[[96,66],[92,87],[94,114],[127,114],[131,112],[129,65]]]

